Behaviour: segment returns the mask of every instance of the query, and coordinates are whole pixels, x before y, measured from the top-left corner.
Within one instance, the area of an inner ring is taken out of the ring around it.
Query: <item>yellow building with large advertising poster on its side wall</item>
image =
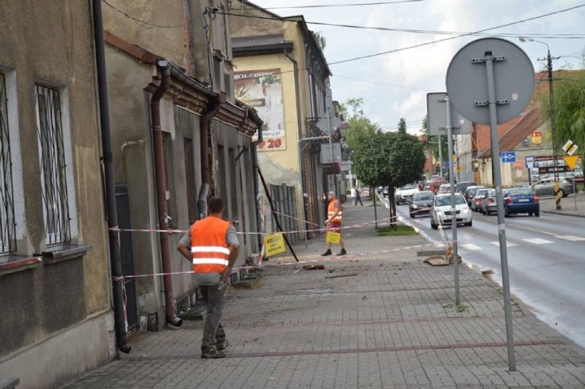
[[[294,204],[287,213],[295,219],[282,220],[292,221],[290,230],[306,229],[303,221],[320,225],[323,194],[339,189],[334,173],[341,170],[339,164],[321,163],[321,143],[328,140],[314,139],[326,135],[316,124],[326,117],[328,104],[336,118],[327,99],[331,73],[318,37],[303,16],[284,18],[249,1],[232,1],[230,15],[236,98],[264,120],[259,162],[269,191],[274,197],[286,191],[280,199]],[[339,141],[334,146],[341,152]],[[282,185],[290,190],[277,190]]]

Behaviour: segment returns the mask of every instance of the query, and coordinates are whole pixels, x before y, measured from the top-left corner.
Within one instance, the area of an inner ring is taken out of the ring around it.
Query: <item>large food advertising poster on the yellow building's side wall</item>
[[[254,108],[264,121],[259,150],[285,150],[280,69],[236,71],[233,74],[233,85],[236,89],[236,98]]]

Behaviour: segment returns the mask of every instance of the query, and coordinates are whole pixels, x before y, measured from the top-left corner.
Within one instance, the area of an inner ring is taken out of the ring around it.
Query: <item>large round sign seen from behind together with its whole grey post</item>
[[[494,68],[497,71],[494,71]],[[534,67],[532,67],[525,52],[514,43],[500,38],[481,38],[463,46],[455,54],[447,70],[446,83],[452,104],[461,115],[479,124],[490,124],[492,170],[498,208],[508,366],[510,371],[514,371],[516,370],[516,359],[514,356],[498,124],[512,120],[527,107],[534,92]]]

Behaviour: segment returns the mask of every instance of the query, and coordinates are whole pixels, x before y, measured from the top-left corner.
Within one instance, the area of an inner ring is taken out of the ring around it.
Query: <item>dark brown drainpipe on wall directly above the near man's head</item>
[[[220,93],[216,98],[211,96],[207,109],[201,118],[200,144],[201,144],[201,188],[197,199],[199,219],[207,216],[207,195],[209,194],[209,122],[219,112],[222,102],[226,100],[226,94]]]

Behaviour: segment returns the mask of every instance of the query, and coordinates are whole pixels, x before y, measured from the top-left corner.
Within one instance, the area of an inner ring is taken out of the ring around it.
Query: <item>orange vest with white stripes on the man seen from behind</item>
[[[215,216],[196,221],[191,227],[191,255],[195,273],[221,273],[228,265],[225,241],[229,222]]]

